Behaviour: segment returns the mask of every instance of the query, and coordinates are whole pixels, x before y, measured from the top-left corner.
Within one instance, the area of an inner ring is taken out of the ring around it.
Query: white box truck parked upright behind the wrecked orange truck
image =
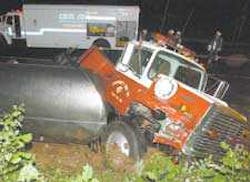
[[[138,26],[138,6],[26,4],[0,16],[0,44],[120,49],[137,38]]]

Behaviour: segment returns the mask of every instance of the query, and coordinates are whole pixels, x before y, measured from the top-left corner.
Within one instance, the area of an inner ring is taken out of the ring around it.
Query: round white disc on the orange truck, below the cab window
[[[156,82],[154,93],[159,99],[169,99],[177,91],[178,85],[175,80],[165,75],[160,75]]]

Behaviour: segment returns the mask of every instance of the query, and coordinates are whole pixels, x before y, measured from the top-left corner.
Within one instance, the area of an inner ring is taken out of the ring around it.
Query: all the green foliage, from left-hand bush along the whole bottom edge
[[[113,161],[104,156],[104,167],[86,164],[78,174],[64,173],[58,169],[39,169],[34,157],[24,150],[32,136],[21,132],[23,106],[13,106],[0,119],[0,181],[3,182],[249,182],[250,153],[238,148],[227,151],[218,162],[210,158],[194,160],[182,158],[176,163],[172,157],[161,152],[149,152],[136,164]],[[72,161],[74,162],[74,161]],[[39,172],[42,171],[42,172]]]

